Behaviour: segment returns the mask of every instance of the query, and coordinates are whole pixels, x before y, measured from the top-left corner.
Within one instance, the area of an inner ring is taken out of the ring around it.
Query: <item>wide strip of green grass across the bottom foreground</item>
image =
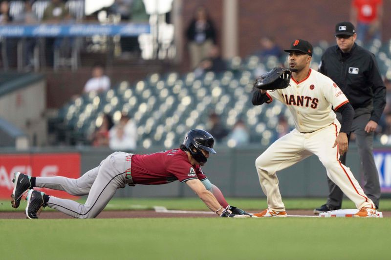
[[[1,259],[390,259],[390,219],[0,220]]]

